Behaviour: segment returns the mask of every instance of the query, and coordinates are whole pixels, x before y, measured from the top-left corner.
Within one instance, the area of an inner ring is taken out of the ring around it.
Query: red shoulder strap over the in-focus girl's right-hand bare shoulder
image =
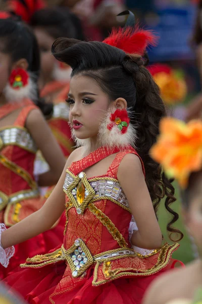
[[[143,172],[144,177],[145,177],[145,170],[144,170],[144,164],[142,162],[142,159],[140,158],[138,153],[132,147],[131,147],[131,149],[128,149],[128,150],[125,150],[125,151],[120,151],[119,153],[117,153],[115,159],[113,160],[112,164],[110,165],[110,167],[108,169],[107,175],[117,178],[119,165],[120,165],[122,159],[124,158],[124,156],[127,155],[127,154],[135,154],[136,156],[138,156],[138,158],[141,162],[141,165],[142,165],[142,172]]]

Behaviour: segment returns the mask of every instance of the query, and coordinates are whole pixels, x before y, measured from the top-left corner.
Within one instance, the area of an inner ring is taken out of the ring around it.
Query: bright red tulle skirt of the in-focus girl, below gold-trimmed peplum
[[[73,283],[74,288],[71,287],[70,291],[62,294],[55,293],[50,301],[49,296],[60,284],[66,267],[65,262],[60,262],[43,268],[19,269],[18,272],[8,276],[5,283],[20,293],[30,304],[50,304],[50,302],[54,304],[140,304],[151,281],[171,268],[168,265],[151,276],[119,278],[99,286],[92,286],[93,269],[91,268],[87,270],[82,280]],[[65,289],[66,287],[68,289],[71,280],[73,282],[74,279],[67,280]]]

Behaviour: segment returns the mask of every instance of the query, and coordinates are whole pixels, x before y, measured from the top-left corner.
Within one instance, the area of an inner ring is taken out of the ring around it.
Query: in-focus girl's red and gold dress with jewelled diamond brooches
[[[117,153],[108,172],[86,178],[85,169]],[[132,147],[101,147],[67,169],[66,226],[62,246],[28,258],[6,282],[31,304],[137,304],[148,284],[169,269],[178,245],[143,255],[129,241],[130,206],[117,179]],[[142,165],[143,169],[143,165]]]

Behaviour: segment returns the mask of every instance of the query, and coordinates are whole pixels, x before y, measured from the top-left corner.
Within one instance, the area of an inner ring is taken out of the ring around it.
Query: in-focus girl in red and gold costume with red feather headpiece
[[[62,246],[28,258],[6,280],[29,303],[140,303],[171,267],[178,245],[162,246],[156,211],[166,194],[168,231],[179,233],[171,227],[174,188],[148,155],[165,115],[144,67],[144,49],[154,41],[150,32],[125,28],[104,42],[62,38],[53,45],[73,69],[67,102],[81,146],[43,207],[2,233],[5,263],[13,244],[49,229],[66,209]]]

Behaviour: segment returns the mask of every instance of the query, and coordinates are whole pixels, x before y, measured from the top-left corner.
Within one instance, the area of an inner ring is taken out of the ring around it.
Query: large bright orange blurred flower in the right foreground
[[[186,187],[190,172],[202,167],[202,122],[186,124],[174,118],[162,119],[160,135],[150,149],[150,156],[169,177],[175,177]]]

